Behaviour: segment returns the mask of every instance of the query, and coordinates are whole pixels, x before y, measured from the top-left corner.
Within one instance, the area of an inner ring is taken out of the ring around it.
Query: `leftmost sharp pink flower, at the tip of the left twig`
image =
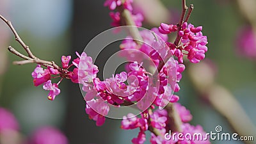
[[[39,86],[40,84],[45,83],[49,79],[51,79],[51,73],[48,69],[43,69],[40,65],[37,65],[35,70],[32,72],[33,83],[35,86]]]

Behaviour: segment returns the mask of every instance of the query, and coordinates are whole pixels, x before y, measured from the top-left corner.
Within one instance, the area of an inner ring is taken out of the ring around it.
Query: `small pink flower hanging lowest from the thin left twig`
[[[44,90],[49,90],[49,94],[48,94],[48,99],[49,100],[54,100],[56,95],[60,94],[60,89],[58,88],[58,84],[51,82],[51,80],[47,81],[44,85],[43,85]]]

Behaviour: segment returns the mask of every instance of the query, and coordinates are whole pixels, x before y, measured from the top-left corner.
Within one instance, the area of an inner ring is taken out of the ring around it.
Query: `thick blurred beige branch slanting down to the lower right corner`
[[[189,65],[188,74],[200,97],[207,100],[212,108],[227,118],[227,122],[239,136],[256,135],[255,125],[234,95],[214,81],[214,70],[211,65],[204,61],[197,65]],[[253,143],[253,141],[243,142]]]

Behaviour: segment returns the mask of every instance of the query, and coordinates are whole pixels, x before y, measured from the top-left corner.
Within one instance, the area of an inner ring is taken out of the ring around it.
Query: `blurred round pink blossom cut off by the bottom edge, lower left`
[[[33,132],[29,144],[68,144],[67,137],[54,127],[42,127]]]

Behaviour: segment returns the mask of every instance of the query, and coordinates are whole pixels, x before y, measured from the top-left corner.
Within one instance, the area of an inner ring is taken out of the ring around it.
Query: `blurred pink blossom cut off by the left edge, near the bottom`
[[[7,109],[0,108],[0,133],[5,130],[19,130],[15,116]]]

